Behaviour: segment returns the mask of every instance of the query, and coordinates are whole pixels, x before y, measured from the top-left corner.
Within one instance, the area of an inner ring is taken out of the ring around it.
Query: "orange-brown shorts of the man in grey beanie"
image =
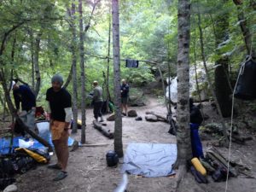
[[[60,140],[64,137],[68,137],[68,131],[64,130],[65,122],[54,120],[50,125],[51,127],[51,140]]]

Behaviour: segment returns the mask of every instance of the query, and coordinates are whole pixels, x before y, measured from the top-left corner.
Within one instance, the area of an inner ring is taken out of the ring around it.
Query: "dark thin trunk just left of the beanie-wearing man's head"
[[[41,36],[42,36],[42,33],[39,32],[35,42],[34,66],[35,66],[35,74],[36,74],[36,88],[34,90],[34,93],[36,98],[38,97],[40,84],[41,84],[41,75],[40,75],[40,69],[39,69],[39,51],[40,51]]]

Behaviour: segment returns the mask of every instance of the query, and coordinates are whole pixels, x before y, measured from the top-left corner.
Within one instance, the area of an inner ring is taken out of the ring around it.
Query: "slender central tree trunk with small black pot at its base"
[[[119,0],[112,0],[113,20],[113,96],[115,105],[114,119],[114,141],[113,147],[120,157],[123,157],[122,142],[122,116],[121,116],[121,94],[120,94],[120,55],[119,55]]]

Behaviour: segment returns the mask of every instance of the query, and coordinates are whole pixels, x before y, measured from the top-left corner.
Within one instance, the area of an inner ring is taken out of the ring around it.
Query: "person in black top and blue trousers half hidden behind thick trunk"
[[[201,138],[198,129],[203,121],[200,109],[194,105],[192,98],[189,98],[189,113],[190,113],[190,138],[193,157],[203,158]]]

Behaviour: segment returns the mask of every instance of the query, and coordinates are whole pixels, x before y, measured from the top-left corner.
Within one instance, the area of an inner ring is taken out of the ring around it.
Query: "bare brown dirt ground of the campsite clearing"
[[[123,117],[123,146],[124,153],[128,143],[176,143],[176,137],[167,133],[169,125],[164,122],[150,123],[144,119],[146,111],[154,111],[166,116],[166,107],[156,98],[150,97],[147,106],[140,108],[130,108],[137,110],[138,115],[143,117],[143,121],[136,121],[134,118]],[[208,108],[206,113],[214,122],[218,119],[216,113]],[[105,115],[106,119],[108,115]],[[108,167],[106,163],[106,154],[108,150],[113,149],[113,139],[108,139],[93,128],[92,110],[86,111],[86,142],[87,143],[106,143],[103,147],[80,147],[70,153],[68,161],[68,177],[53,182],[56,172],[47,169],[46,166],[38,166],[35,170],[26,172],[18,176],[16,183],[21,192],[57,192],[57,191],[86,191],[86,192],[112,192],[119,183],[122,175],[119,165],[115,168]],[[113,131],[114,122],[107,121],[107,127]],[[80,130],[71,137],[80,141]],[[255,136],[253,136],[255,138]],[[212,140],[203,142],[204,150],[210,147]],[[247,145],[238,145],[232,143],[231,160],[235,160],[242,165],[251,169],[251,175],[256,177],[256,142],[247,142]],[[218,148],[224,156],[228,155],[228,148]],[[51,162],[55,162],[55,155],[52,156]],[[195,178],[188,173],[183,177],[182,184],[178,191],[180,192],[216,192],[225,191],[225,182],[215,183],[210,176],[207,177],[209,183],[199,184]],[[129,192],[170,192],[174,183],[173,177],[138,177],[135,175],[128,176],[129,183],[127,191]],[[253,192],[256,189],[254,178],[247,178],[242,175],[231,177],[228,182],[228,190],[232,192]]]

